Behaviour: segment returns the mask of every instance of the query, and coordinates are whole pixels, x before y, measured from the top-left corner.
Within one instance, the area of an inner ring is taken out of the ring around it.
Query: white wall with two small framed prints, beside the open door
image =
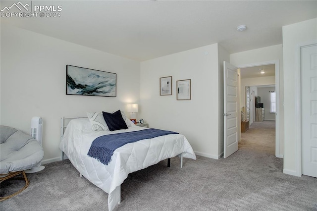
[[[208,52],[208,55],[205,55]],[[218,46],[141,62],[140,115],[150,127],[186,136],[197,155],[218,158]],[[172,95],[159,95],[159,78],[172,76]],[[176,100],[176,81],[191,79],[192,100]]]

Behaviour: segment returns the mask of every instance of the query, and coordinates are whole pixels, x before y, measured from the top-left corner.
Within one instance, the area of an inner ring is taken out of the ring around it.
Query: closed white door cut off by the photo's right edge
[[[301,48],[302,174],[317,177],[317,45]]]

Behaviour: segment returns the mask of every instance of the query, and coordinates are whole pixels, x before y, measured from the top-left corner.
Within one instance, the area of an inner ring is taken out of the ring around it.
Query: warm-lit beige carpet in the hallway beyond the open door
[[[275,155],[275,121],[253,122],[241,139],[239,149]]]

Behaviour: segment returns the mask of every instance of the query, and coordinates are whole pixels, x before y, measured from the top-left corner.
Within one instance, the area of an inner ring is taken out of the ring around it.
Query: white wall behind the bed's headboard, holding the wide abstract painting
[[[117,97],[65,95],[66,64],[117,74]],[[44,161],[61,157],[60,117],[125,109],[140,100],[140,63],[1,23],[1,125],[30,133],[44,120]]]

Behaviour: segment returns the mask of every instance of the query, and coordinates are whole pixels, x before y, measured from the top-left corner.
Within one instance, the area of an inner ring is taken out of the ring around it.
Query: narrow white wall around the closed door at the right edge
[[[301,176],[301,134],[298,126],[300,47],[317,43],[317,18],[283,27],[285,153],[284,173]]]

